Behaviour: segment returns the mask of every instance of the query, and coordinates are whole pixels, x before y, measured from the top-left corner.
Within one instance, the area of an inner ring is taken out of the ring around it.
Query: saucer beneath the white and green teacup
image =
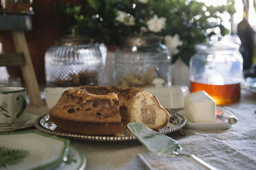
[[[34,121],[39,117],[39,115],[34,114],[34,113],[28,113],[28,112],[23,112],[21,114],[21,121],[25,121],[25,123],[21,125],[1,125],[0,126],[0,132],[10,132],[14,130],[19,130],[23,129],[25,127],[32,127],[34,125]]]

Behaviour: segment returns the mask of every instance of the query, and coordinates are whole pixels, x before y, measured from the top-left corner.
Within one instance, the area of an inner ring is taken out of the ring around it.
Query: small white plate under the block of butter
[[[214,123],[193,123],[186,117],[184,110],[178,111],[178,114],[184,116],[186,119],[186,125],[184,127],[189,130],[224,130],[230,128],[232,124],[237,122],[234,114],[226,108],[217,106],[217,110],[220,112],[217,112],[216,122]]]

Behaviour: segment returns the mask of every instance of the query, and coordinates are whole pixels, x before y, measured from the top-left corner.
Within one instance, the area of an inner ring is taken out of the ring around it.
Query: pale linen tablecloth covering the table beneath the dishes
[[[195,154],[217,169],[256,169],[256,94],[242,90],[239,103],[226,107],[238,119],[227,130],[185,130],[185,136],[180,132],[168,135],[178,141],[184,151]],[[25,112],[43,115],[49,109],[44,101],[43,107],[28,105]],[[70,145],[83,151],[87,158],[86,169],[120,169],[131,164],[138,154],[153,169],[201,169],[184,157],[151,154],[138,141],[95,142],[70,139]]]

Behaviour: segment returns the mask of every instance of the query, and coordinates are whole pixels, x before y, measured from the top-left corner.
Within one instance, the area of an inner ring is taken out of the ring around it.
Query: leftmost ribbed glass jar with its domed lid
[[[98,45],[81,36],[65,36],[45,53],[47,86],[97,86],[103,81]]]

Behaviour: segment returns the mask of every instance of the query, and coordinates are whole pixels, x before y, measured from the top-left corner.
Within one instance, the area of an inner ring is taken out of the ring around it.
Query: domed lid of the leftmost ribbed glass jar
[[[64,45],[64,46],[71,46],[71,45],[93,45],[93,41],[87,36],[81,35],[67,35],[63,36],[55,41],[56,45]]]

